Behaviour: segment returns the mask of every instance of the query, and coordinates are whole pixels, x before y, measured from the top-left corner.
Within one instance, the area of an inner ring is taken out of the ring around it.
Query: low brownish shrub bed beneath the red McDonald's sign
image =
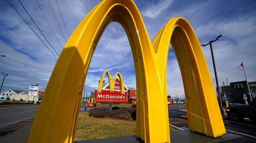
[[[112,119],[136,120],[136,109],[131,107],[123,107],[117,110],[109,110],[107,107],[94,108],[90,110],[89,116],[96,118],[109,117]]]

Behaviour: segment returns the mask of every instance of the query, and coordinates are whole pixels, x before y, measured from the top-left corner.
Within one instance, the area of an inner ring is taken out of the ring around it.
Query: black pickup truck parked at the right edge
[[[228,114],[228,118],[233,121],[241,121],[244,117],[248,117],[256,123],[256,98],[249,105],[232,105],[227,108],[226,113]]]

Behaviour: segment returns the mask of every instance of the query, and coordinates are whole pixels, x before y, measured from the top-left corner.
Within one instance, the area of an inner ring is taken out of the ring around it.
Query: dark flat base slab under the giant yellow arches
[[[170,132],[172,143],[242,143],[243,136],[226,133],[218,138],[211,138],[190,132],[179,130]],[[86,141],[75,141],[75,143],[140,143],[136,136],[125,136],[117,138],[93,139]]]

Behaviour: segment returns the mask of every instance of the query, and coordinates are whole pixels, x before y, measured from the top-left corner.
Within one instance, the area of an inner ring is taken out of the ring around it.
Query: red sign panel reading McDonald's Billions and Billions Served
[[[98,90],[95,90],[95,99],[97,103],[126,103],[127,92],[122,94],[122,92],[110,92],[102,90],[101,93],[98,93]]]

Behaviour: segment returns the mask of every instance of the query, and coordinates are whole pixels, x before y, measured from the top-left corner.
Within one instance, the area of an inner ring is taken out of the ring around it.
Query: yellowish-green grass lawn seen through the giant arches
[[[177,130],[170,127],[170,131]],[[88,139],[133,136],[136,134],[136,121],[109,118],[94,118],[89,112],[80,112],[75,132],[75,141]]]

